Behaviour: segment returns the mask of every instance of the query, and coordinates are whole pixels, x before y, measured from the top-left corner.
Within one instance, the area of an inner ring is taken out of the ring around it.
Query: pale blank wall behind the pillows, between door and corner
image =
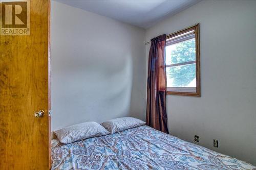
[[[52,130],[145,114],[145,30],[51,4]]]

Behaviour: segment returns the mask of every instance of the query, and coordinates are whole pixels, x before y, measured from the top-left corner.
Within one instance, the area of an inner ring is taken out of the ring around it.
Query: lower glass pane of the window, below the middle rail
[[[167,87],[196,87],[196,64],[166,67]]]

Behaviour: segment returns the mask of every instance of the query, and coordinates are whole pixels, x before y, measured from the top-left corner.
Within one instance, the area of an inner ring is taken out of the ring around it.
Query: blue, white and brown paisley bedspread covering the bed
[[[253,169],[148,126],[71,144],[52,140],[52,169]]]

